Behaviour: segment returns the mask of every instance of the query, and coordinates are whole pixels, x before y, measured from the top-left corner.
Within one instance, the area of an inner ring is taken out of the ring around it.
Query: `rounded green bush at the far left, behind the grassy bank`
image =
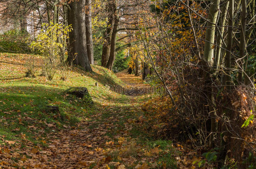
[[[28,37],[26,30],[8,30],[0,35],[0,52],[30,54]]]

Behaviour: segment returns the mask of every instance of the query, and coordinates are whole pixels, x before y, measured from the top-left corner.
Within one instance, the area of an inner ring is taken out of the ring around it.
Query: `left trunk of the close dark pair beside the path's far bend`
[[[111,35],[113,32],[113,27],[115,23],[115,8],[112,5],[112,0],[107,5],[107,11],[110,13],[110,16],[108,17],[107,21],[107,29],[104,33],[105,42],[102,46],[102,59],[101,59],[101,65],[106,67],[107,61],[110,56],[110,43],[111,43]]]

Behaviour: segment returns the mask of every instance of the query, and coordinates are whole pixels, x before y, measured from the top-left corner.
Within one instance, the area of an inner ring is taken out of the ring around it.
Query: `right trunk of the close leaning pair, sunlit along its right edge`
[[[114,0],[113,5],[115,7],[115,23],[114,23],[114,27],[113,27],[112,36],[111,36],[110,57],[107,61],[107,65],[106,65],[106,67],[110,70],[112,70],[114,62],[115,62],[116,36],[118,34],[118,24],[119,24],[119,11],[117,9],[116,0]]]

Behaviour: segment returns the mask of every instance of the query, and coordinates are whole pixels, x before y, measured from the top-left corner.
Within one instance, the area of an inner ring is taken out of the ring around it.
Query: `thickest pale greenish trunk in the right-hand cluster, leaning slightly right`
[[[206,28],[206,37],[204,45],[204,60],[209,66],[212,66],[214,59],[214,37],[217,16],[219,13],[219,0],[212,0],[209,10],[209,16]]]

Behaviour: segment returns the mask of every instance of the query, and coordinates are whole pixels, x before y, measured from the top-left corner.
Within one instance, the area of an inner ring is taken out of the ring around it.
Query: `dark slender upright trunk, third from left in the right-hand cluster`
[[[234,15],[234,0],[230,0],[228,9],[228,28],[227,28],[227,50],[225,56],[225,76],[224,85],[227,85],[227,89],[231,90],[231,50],[232,50],[232,38],[233,38],[233,15]]]

